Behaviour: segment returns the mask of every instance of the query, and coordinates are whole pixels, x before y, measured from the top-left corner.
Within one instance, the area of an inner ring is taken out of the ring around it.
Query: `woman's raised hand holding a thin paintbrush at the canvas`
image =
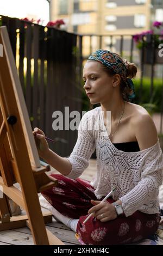
[[[35,127],[33,131],[33,135],[35,138],[39,156],[44,158],[43,156],[45,156],[49,151],[49,145],[46,141],[45,134],[39,128]]]

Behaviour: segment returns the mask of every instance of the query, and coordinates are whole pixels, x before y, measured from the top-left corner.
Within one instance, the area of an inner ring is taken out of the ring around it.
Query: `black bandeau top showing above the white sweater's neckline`
[[[140,151],[139,144],[137,141],[132,142],[122,142],[122,143],[112,143],[118,150],[124,152],[137,152]]]

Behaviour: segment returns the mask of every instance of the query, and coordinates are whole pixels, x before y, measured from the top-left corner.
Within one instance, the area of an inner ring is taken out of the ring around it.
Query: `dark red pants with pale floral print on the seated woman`
[[[158,229],[159,214],[144,214],[140,211],[134,212],[129,217],[122,214],[108,222],[101,222],[91,217],[83,224],[87,211],[93,206],[90,200],[98,200],[94,193],[95,188],[89,181],[83,179],[73,180],[60,174],[52,174],[52,176],[59,181],[59,186],[43,191],[42,196],[62,215],[79,218],[77,233],[86,245],[120,245],[137,242],[153,235]],[[114,200],[109,198],[108,202],[112,203]]]

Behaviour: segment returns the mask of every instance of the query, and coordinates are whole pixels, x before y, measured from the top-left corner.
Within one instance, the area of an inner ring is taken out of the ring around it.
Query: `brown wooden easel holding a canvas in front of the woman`
[[[40,164],[6,27],[0,27],[0,230],[28,225],[35,245],[64,245],[45,228],[37,193],[56,185]],[[14,184],[18,182],[21,191]],[[27,216],[12,217],[8,197]],[[52,221],[46,215],[45,221]]]

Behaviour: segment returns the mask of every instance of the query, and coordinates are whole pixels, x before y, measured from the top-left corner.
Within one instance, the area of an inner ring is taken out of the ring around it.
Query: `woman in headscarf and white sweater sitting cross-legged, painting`
[[[146,109],[129,102],[136,72],[135,64],[116,53],[91,54],[83,70],[84,89],[90,102],[101,107],[84,114],[69,158],[55,154],[44,133],[34,130],[39,155],[62,174],[52,174],[59,187],[42,194],[55,218],[77,231],[86,245],[131,243],[158,228],[163,158],[152,118]],[[97,172],[90,183],[78,177],[95,148]],[[112,197],[101,203],[112,188]]]

